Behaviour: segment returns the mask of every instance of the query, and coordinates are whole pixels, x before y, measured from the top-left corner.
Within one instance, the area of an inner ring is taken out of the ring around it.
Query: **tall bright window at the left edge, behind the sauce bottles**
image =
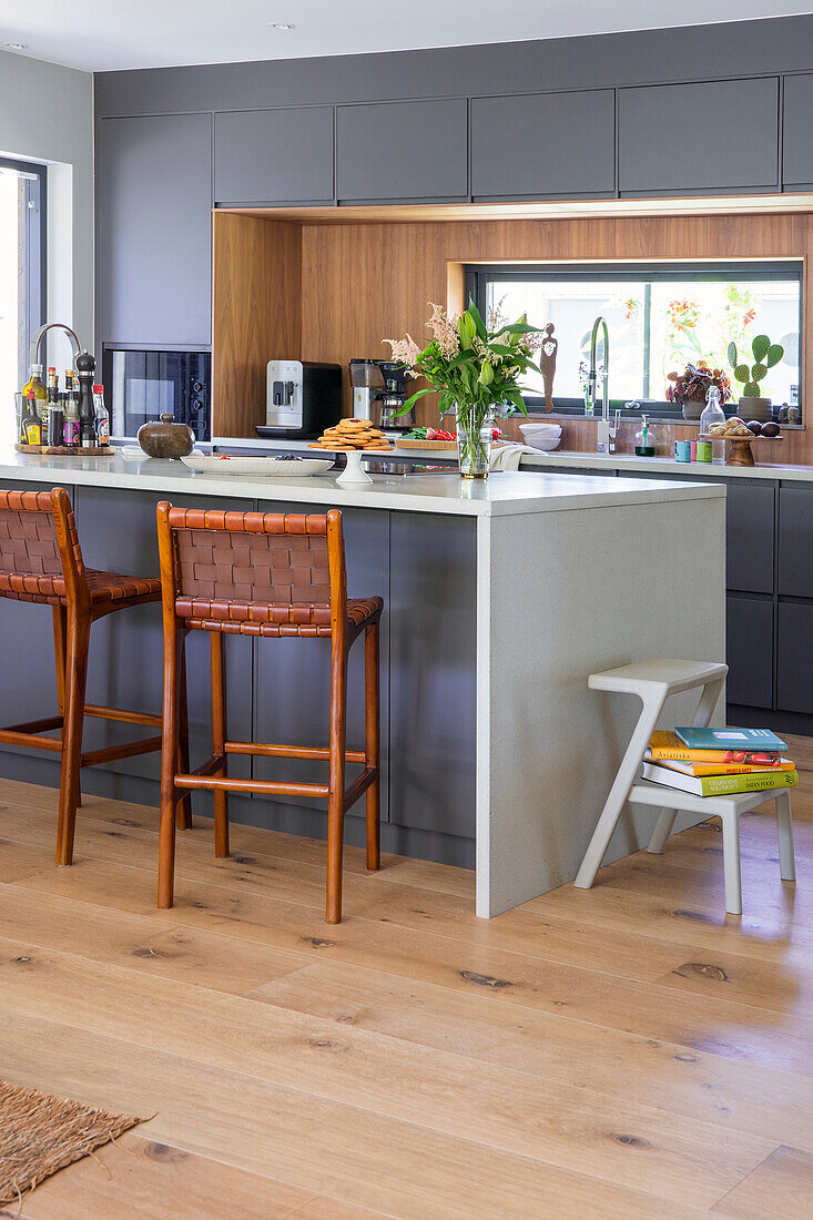
[[[0,403],[2,439],[28,377],[28,344],[45,303],[45,166],[0,157]]]

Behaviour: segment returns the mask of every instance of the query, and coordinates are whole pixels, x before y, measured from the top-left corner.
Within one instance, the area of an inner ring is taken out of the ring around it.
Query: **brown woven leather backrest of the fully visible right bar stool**
[[[170,526],[181,598],[330,605],[323,516],[172,509]]]

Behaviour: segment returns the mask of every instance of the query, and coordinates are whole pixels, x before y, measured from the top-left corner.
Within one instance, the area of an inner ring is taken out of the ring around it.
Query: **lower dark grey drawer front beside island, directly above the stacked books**
[[[773,706],[774,604],[757,598],[726,599],[726,654],[729,703],[747,708]]]

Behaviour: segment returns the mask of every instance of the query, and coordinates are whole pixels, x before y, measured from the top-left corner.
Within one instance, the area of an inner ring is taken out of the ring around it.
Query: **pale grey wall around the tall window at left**
[[[92,74],[0,51],[0,152],[49,163],[48,316],[93,350]]]

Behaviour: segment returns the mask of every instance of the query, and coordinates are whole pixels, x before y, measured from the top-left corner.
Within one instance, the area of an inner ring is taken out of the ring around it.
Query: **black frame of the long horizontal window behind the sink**
[[[691,260],[619,260],[608,262],[597,260],[596,262],[551,262],[551,264],[468,264],[464,270],[465,300],[474,299],[477,309],[486,316],[486,285],[490,281],[497,283],[527,283],[529,281],[546,281],[548,283],[601,283],[602,281],[615,282],[629,281],[637,283],[643,281],[668,283],[680,276],[682,281],[696,281],[698,283],[720,283],[731,279],[747,279],[757,282],[770,281],[778,274],[785,279],[798,279],[798,405],[801,409],[803,396],[803,310],[804,310],[804,260],[803,259],[691,259]],[[544,398],[540,394],[524,394],[525,405],[529,414],[544,414]],[[675,403],[665,399],[636,399],[641,405],[627,410],[624,399],[610,399],[610,411],[620,411],[623,418],[637,418],[641,411],[647,416],[662,420],[682,420],[682,410]],[[736,399],[726,404],[726,414],[735,414],[737,410]],[[584,399],[558,398],[554,414],[557,415],[585,415]]]

